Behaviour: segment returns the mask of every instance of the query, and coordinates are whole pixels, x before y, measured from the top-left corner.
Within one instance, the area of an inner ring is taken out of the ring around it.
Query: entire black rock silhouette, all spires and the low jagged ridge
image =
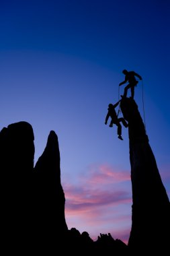
[[[169,250],[170,205],[138,106],[120,103],[128,121],[132,180],[132,229],[128,246],[100,234],[68,229],[65,193],[60,181],[58,137],[50,131],[46,148],[34,167],[34,132],[27,122],[0,132],[1,244],[6,254],[140,255]]]

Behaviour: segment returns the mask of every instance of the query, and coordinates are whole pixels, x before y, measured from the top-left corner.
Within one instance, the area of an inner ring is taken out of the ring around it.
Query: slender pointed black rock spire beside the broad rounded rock
[[[65,193],[60,183],[58,137],[50,131],[46,148],[34,168],[36,174],[36,224],[40,245],[54,248],[58,236],[68,230],[65,221]],[[44,222],[46,220],[46,222]],[[43,225],[42,225],[43,223]]]

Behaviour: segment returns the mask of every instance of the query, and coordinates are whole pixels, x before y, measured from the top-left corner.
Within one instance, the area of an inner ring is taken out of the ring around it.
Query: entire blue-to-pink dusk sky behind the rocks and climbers
[[[128,129],[121,141],[104,124],[123,69],[143,78],[134,100],[170,198],[169,11],[168,0],[0,3],[0,129],[30,123],[35,163],[56,132],[67,225],[94,240],[130,235]]]

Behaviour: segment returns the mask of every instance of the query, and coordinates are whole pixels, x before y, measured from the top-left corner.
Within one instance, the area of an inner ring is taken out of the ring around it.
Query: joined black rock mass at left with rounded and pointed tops
[[[50,131],[35,168],[34,151],[29,123],[1,130],[1,245],[6,253],[49,253],[68,230],[56,133]]]

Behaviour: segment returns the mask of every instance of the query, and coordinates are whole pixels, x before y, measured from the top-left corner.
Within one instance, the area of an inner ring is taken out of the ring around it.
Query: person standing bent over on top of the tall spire
[[[131,98],[134,99],[134,86],[138,84],[138,81],[136,80],[136,77],[138,77],[140,80],[142,80],[142,77],[138,75],[138,73],[134,71],[127,71],[124,69],[122,71],[125,75],[125,79],[123,82],[119,84],[119,86],[122,86],[122,84],[126,84],[126,82],[129,82],[129,84],[124,88],[124,97],[127,96],[128,89],[131,89]],[[135,77],[136,76],[136,77]]]

